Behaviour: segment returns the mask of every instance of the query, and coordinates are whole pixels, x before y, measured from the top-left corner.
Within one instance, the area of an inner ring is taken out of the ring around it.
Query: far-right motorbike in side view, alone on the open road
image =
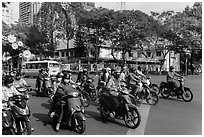
[[[167,82],[161,82],[160,84],[160,92],[162,97],[181,97],[185,102],[190,102],[193,99],[193,93],[190,88],[184,86],[184,78],[179,78],[180,86],[175,89],[172,85],[169,85]]]

